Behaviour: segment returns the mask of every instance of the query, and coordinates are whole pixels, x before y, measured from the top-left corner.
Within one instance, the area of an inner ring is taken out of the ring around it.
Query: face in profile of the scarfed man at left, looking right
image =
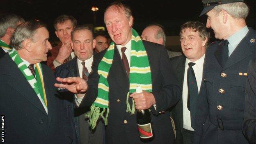
[[[34,42],[31,42],[31,59],[32,62],[38,63],[47,60],[48,50],[52,49],[49,39],[49,32],[45,27],[37,29]]]

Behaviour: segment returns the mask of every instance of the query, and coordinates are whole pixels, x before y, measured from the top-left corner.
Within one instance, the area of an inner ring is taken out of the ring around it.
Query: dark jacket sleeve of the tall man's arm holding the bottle
[[[160,88],[153,90],[152,94],[156,101],[156,111],[151,107],[153,114],[161,114],[164,110],[174,106],[181,98],[181,89],[171,67],[170,59],[164,46],[162,46],[159,56],[159,73],[158,82]],[[156,68],[157,69],[157,68]],[[154,86],[153,86],[154,87]]]

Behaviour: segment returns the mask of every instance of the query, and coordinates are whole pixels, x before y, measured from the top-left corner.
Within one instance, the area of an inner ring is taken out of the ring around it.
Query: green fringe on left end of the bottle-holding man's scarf
[[[100,112],[101,109],[103,109],[102,112]],[[107,110],[107,112],[104,117],[103,114],[105,113],[106,110]],[[91,111],[88,112],[87,114],[85,114],[85,116],[89,117],[89,126],[91,127],[91,129],[93,130],[96,127],[100,116],[102,117],[102,119],[105,123],[105,126],[106,126],[108,113],[109,113],[109,108],[101,108],[101,107],[97,107],[95,105],[91,105]]]

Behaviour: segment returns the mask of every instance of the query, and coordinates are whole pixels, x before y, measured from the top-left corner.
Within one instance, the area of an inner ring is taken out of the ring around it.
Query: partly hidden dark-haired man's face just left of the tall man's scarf
[[[95,40],[96,40],[96,46],[95,46],[96,53],[99,53],[109,47],[108,38],[105,34],[103,33],[96,34]]]

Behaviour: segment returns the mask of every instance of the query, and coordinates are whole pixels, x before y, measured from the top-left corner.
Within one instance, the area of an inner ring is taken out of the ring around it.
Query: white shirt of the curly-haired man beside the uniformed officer
[[[192,66],[192,68],[194,70],[196,80],[197,80],[198,93],[200,91],[201,81],[202,81],[202,78],[203,78],[204,57],[205,57],[205,55],[203,55],[203,57],[201,57],[197,61],[193,62],[193,63],[195,63],[195,65]],[[183,91],[182,91],[183,128],[185,128],[187,130],[194,131],[194,129],[191,127],[190,111],[187,109],[187,93],[188,93],[188,89],[187,89],[187,69],[189,67],[188,66],[189,62],[192,62],[192,61],[190,61],[189,59],[186,58],[185,71],[184,71],[184,80],[183,80]]]

